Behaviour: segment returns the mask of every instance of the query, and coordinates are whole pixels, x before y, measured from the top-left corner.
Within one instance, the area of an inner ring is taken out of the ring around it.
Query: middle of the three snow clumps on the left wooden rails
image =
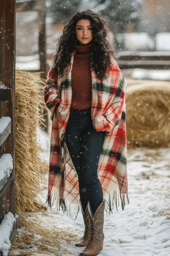
[[[0,183],[6,177],[9,177],[13,169],[13,159],[10,154],[3,154],[0,157]]]

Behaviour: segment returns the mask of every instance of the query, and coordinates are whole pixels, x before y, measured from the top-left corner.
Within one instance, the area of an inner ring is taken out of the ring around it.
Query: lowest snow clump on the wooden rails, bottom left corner
[[[0,225],[0,253],[7,256],[11,247],[10,236],[13,229],[13,224],[16,222],[14,215],[8,212]]]

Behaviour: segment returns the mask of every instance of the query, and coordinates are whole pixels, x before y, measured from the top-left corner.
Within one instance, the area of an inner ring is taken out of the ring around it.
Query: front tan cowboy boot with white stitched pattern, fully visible
[[[85,256],[96,256],[99,254],[99,251],[103,249],[103,224],[104,224],[104,207],[105,207],[105,199],[102,200],[102,203],[98,207],[95,215],[93,216],[90,203],[88,202],[88,211],[90,216],[90,228],[91,228],[91,237],[90,240],[80,255]]]

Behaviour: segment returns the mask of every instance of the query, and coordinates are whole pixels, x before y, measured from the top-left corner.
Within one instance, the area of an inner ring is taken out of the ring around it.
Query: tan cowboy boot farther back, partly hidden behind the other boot
[[[89,218],[88,207],[86,207],[85,212],[83,212],[81,201],[80,201],[80,206],[81,206],[81,210],[82,210],[85,230],[84,230],[84,235],[83,235],[82,239],[77,244],[75,244],[75,246],[84,247],[88,244],[88,241],[90,240],[90,236],[91,236],[90,218]]]

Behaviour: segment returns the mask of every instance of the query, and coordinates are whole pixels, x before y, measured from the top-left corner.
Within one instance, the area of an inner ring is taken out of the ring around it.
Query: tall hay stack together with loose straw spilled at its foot
[[[22,227],[22,232],[18,230],[13,238],[9,255],[15,255],[15,250],[18,250],[17,255],[20,256],[31,255],[37,251],[42,255],[48,253],[61,255],[68,252],[65,248],[61,248],[61,242],[76,241],[77,238],[76,235],[64,230],[43,227],[40,223],[31,222],[27,218],[26,211],[46,209],[46,206],[36,199],[42,174],[45,169],[48,170],[39,156],[41,147],[36,140],[37,127],[43,122],[44,84],[45,81],[40,78],[40,73],[16,70],[15,207],[16,213],[20,216],[19,226]]]

